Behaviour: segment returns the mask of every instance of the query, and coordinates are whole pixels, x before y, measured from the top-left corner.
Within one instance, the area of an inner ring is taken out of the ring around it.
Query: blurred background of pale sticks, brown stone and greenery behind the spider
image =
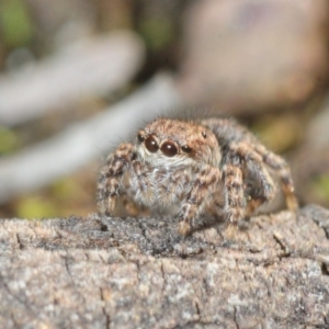
[[[172,110],[234,115],[329,206],[327,0],[1,0],[0,217],[95,212],[106,154]]]

